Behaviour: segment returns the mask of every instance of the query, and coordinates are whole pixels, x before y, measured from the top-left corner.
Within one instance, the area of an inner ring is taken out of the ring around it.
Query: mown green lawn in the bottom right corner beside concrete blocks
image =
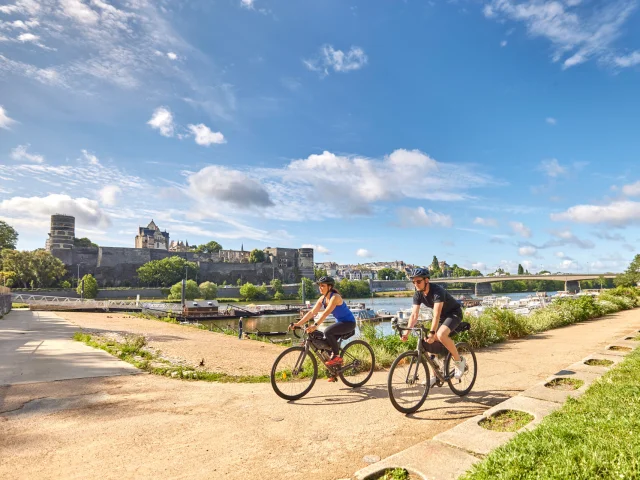
[[[621,480],[640,476],[640,350],[530,432],[489,454],[464,480]]]

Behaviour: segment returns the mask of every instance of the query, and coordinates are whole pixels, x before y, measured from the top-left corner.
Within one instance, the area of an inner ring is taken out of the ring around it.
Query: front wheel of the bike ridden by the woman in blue
[[[280,398],[298,400],[313,388],[318,378],[318,362],[304,347],[282,352],[271,368],[271,386]]]

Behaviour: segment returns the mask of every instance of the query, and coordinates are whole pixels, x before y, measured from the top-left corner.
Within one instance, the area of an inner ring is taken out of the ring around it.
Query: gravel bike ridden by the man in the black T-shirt
[[[423,341],[428,333],[424,325],[403,328],[397,322],[394,322],[392,327],[400,335],[404,330],[409,330],[418,336],[416,349],[401,353],[394,360],[389,370],[387,388],[391,403],[396,410],[402,413],[413,413],[422,406],[431,387],[432,375],[429,374],[430,371],[436,377],[435,385],[438,387],[441,387],[446,382],[449,384],[451,391],[461,397],[471,391],[478,374],[476,354],[471,345],[465,342],[456,343],[458,353],[466,361],[464,373],[458,379],[454,377],[453,357],[446,347],[438,341],[432,344]],[[453,338],[456,334],[470,328],[471,325],[469,323],[461,322],[451,332],[451,337]]]

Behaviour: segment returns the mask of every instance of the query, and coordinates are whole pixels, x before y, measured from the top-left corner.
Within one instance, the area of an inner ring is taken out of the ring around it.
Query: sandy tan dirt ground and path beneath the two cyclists
[[[148,335],[152,346],[193,362],[242,360],[244,373],[268,371],[280,351],[109,316],[64,314],[82,328]],[[384,458],[430,439],[639,329],[640,310],[628,311],[483,349],[469,396],[434,388],[410,416],[391,406],[385,372],[358,390],[319,381],[296,402],[269,384],[146,374],[0,387],[0,478],[350,478],[365,456]]]

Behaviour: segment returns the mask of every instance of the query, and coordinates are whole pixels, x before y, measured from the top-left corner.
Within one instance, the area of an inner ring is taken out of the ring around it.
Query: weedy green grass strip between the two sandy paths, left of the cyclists
[[[269,382],[269,375],[228,375],[171,362],[145,349],[146,340],[141,335],[130,335],[126,337],[125,342],[117,342],[99,335],[76,332],[73,339],[90,347],[104,350],[140,370],[154,375],[222,383]]]

